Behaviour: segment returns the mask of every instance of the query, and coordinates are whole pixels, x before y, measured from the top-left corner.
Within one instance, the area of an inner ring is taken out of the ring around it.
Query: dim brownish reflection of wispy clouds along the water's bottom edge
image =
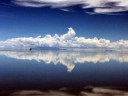
[[[14,92],[10,96],[128,96],[128,92],[95,87],[90,92],[81,91],[78,95],[60,90],[49,92],[30,90]]]

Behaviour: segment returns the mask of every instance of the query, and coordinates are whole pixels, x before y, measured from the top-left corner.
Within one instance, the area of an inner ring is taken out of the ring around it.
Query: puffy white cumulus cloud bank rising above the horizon
[[[58,47],[58,48],[128,48],[128,40],[110,42],[106,39],[77,37],[72,28],[61,36],[46,35],[44,37],[20,37],[6,41],[0,41],[0,48],[34,48],[34,47]]]

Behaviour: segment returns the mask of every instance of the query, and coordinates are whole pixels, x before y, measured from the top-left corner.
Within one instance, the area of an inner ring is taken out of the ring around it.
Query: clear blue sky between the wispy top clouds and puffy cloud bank
[[[72,12],[58,8],[21,7],[0,2],[0,41],[16,37],[62,35],[72,27],[77,36],[105,38],[111,41],[128,39],[128,15],[89,15],[78,6]]]

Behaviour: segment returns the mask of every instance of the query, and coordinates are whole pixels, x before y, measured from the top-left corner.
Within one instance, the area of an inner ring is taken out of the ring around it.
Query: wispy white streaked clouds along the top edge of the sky
[[[94,13],[113,13],[128,11],[128,0],[12,0],[24,7],[67,8],[81,5],[82,9],[92,8]],[[65,10],[64,10],[65,11]]]

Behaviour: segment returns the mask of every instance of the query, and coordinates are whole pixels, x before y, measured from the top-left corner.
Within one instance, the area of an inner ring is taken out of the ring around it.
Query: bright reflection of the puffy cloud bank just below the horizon
[[[128,62],[128,52],[123,51],[0,51],[0,55],[22,60],[36,60],[38,62],[44,61],[46,64],[54,63],[56,65],[60,63],[67,67],[68,72],[73,70],[76,63],[105,63],[110,60],[115,60],[121,63]]]

